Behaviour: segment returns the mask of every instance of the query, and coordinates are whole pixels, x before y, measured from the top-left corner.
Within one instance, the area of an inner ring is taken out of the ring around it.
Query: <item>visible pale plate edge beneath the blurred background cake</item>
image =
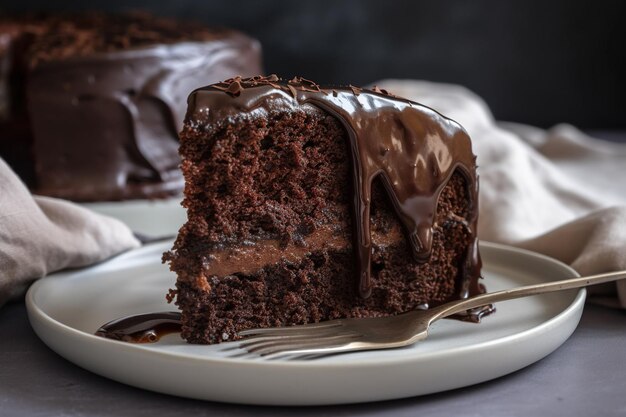
[[[133,232],[148,237],[176,236],[187,221],[187,212],[180,205],[181,197],[165,200],[127,200],[81,203],[96,213],[114,217],[126,223]]]

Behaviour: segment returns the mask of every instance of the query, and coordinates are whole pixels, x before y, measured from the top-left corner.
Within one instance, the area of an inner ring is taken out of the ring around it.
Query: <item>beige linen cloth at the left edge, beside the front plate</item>
[[[46,274],[138,246],[115,219],[67,201],[33,197],[0,159],[0,306]]]

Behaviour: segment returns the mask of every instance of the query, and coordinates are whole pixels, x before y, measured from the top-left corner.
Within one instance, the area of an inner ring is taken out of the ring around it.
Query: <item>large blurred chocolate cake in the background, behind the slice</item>
[[[38,194],[179,194],[194,88],[260,72],[257,41],[146,14],[0,19],[0,157]]]

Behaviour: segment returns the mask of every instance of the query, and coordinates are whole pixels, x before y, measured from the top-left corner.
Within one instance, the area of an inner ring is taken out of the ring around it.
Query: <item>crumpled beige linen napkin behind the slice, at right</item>
[[[544,131],[497,123],[483,100],[460,86],[376,84],[468,131],[479,165],[481,239],[546,254],[583,275],[626,269],[625,144],[591,138],[569,125]],[[626,308],[626,280],[592,287],[590,294]]]

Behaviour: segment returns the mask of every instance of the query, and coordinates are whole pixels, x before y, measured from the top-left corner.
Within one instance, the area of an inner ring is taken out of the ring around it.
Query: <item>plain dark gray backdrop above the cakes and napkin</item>
[[[466,85],[497,118],[626,126],[626,2],[0,0],[0,10],[145,9],[261,40],[267,73]]]

